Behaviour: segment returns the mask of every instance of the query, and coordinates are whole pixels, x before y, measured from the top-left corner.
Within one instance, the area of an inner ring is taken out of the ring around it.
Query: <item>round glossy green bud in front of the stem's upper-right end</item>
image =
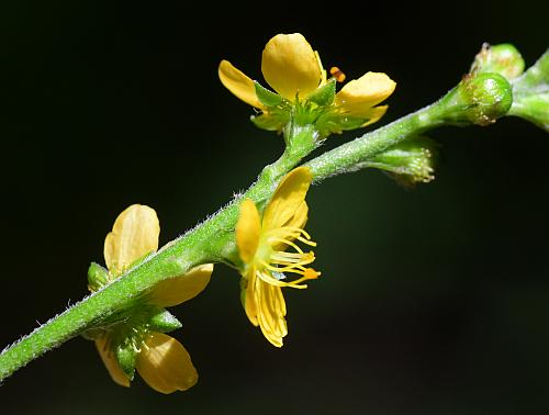
[[[505,115],[513,103],[509,82],[500,74],[468,74],[441,104],[441,117],[458,125],[489,125]]]

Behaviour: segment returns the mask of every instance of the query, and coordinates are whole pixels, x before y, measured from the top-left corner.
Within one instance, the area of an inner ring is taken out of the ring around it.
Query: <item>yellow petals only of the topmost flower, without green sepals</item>
[[[344,80],[338,70],[335,77]],[[278,34],[265,46],[261,59],[265,80],[281,97],[290,102],[306,100],[317,88],[326,85],[326,70],[320,55],[300,33]],[[219,67],[222,83],[244,102],[264,111],[269,108],[256,93],[255,82],[228,60],[222,60]],[[359,79],[351,80],[336,93],[330,102],[332,110],[352,117],[367,120],[362,125],[378,121],[386,111],[386,105],[374,106],[385,100],[396,83],[385,74],[367,72]]]

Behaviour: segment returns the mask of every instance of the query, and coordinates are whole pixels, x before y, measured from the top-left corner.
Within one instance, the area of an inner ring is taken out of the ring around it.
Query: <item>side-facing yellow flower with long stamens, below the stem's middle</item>
[[[244,262],[243,305],[249,321],[277,347],[282,346],[282,338],[288,334],[281,288],[305,289],[303,281],[321,274],[306,268],[314,261],[314,253],[304,253],[295,244],[299,240],[316,246],[303,229],[309,211],[305,195],[311,180],[307,167],[292,170],[278,186],[262,218],[255,203],[247,199],[240,204],[236,224],[236,243]],[[287,253],[289,248],[294,251]],[[298,274],[298,278],[287,280],[288,273]]]

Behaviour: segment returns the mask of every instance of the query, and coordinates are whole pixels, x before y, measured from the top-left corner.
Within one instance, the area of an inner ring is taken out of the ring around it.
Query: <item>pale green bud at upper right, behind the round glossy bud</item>
[[[494,46],[484,43],[471,66],[471,74],[495,72],[508,80],[517,78],[523,71],[524,59],[517,48],[508,43]]]

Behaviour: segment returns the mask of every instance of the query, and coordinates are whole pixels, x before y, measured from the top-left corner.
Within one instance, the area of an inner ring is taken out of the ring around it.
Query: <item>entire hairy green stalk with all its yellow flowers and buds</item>
[[[363,168],[381,169],[406,186],[428,182],[435,145],[425,133],[442,125],[485,126],[512,115],[549,131],[549,53],[528,70],[524,66],[514,46],[483,45],[469,72],[437,102],[303,162],[332,134],[379,121],[388,111],[380,104],[396,83],[367,72],[338,90],[345,75],[336,67],[327,71],[298,33],[276,35],[264,49],[261,71],[272,90],[222,60],[222,83],[256,109],[251,121],[258,127],[282,135],[283,154],[247,191],[160,249],[153,209],[122,212],[105,239],[107,268],[90,266],[91,294],[8,346],[0,355],[0,381],[80,335],[96,343],[121,385],[130,386],[137,371],[161,393],[191,388],[198,372],[184,347],[166,334],[181,325],[165,309],[204,290],[213,263],[237,270],[247,318],[282,347],[282,289],[305,289],[305,281],[321,276],[311,267],[316,244],[304,229],[311,183]]]

